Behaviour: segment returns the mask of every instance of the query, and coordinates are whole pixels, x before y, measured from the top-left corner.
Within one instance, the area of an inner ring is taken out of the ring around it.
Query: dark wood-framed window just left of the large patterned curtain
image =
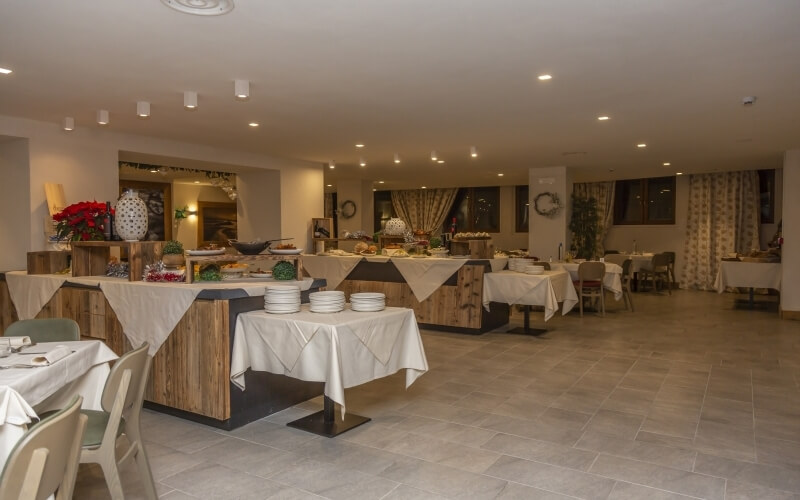
[[[614,224],[675,224],[675,177],[617,181]]]

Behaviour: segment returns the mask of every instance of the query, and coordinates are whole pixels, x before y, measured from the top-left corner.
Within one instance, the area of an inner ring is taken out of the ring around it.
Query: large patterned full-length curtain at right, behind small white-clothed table
[[[689,213],[681,288],[713,290],[719,261],[759,247],[758,172],[689,176]]]

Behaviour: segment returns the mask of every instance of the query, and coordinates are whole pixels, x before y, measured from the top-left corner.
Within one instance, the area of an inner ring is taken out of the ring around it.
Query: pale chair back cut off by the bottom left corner
[[[76,396],[66,408],[42,419],[20,438],[0,474],[0,498],[72,498],[87,421],[80,412],[82,402],[83,398]]]

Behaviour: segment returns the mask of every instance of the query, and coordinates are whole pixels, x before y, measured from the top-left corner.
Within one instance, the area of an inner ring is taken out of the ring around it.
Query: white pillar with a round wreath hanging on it
[[[531,204],[528,254],[547,260],[558,257],[558,244],[569,249],[570,201],[572,199],[572,175],[567,167],[531,168],[528,180],[528,196]],[[533,200],[540,193],[558,195],[564,207],[555,217],[544,217],[533,210]]]

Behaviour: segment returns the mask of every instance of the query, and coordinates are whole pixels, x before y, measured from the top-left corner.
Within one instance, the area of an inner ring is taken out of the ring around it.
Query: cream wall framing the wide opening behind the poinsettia
[[[0,136],[4,135],[29,141],[30,220],[26,251],[42,250],[45,246],[42,236],[47,214],[44,183],[61,183],[67,203],[116,200],[120,151],[280,171],[281,237],[309,240],[311,218],[322,213],[322,166],[310,162],[119,134],[113,132],[113,127],[78,127],[73,132],[65,132],[55,123],[0,115]],[[13,213],[15,210],[19,207],[10,199],[0,199],[0,211]]]

